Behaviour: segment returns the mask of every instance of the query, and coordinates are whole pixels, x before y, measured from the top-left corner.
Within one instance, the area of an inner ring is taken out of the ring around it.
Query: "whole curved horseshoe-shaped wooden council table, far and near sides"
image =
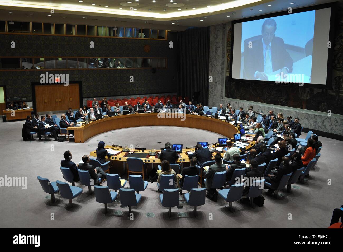
[[[88,123],[87,125],[81,126],[81,127],[68,127],[68,130],[74,130],[74,136],[75,136],[75,142],[85,142],[88,138],[98,135],[100,133],[104,133],[106,131],[115,130],[115,129],[121,129],[121,128],[128,128],[128,127],[140,127],[140,126],[177,126],[177,127],[190,127],[190,128],[197,128],[197,129],[204,129],[208,131],[212,131],[221,135],[226,136],[227,138],[232,138],[234,134],[238,132],[238,129],[233,126],[232,124],[207,117],[207,116],[199,116],[199,115],[186,115],[184,117],[184,121],[181,121],[181,118],[177,118],[176,114],[170,114],[167,113],[167,115],[163,118],[157,117],[158,113],[146,113],[146,114],[132,114],[132,115],[120,115],[120,116],[113,116],[113,117],[107,117],[103,119],[99,119],[97,121]],[[175,118],[171,117],[175,116]],[[197,139],[194,139],[194,142]],[[248,146],[246,149],[251,148],[253,145],[255,145],[255,141],[248,141]],[[142,146],[144,147],[144,146]],[[148,174],[149,172],[146,171],[146,164],[151,164],[151,168],[156,168],[157,165],[161,163],[161,160],[158,158],[158,154],[156,156],[149,156],[149,151],[151,150],[144,150],[144,152],[141,152],[141,150],[134,150],[133,154],[130,154],[129,152],[123,152],[123,148],[119,147],[113,147],[106,145],[105,148],[111,148],[116,151],[118,151],[117,154],[110,156],[108,159],[106,157],[106,161],[110,161],[110,169],[113,173],[118,173],[120,175],[125,174],[126,171],[126,161],[130,157],[136,157],[140,158],[144,166],[142,168],[143,177],[144,173]],[[182,153],[178,153],[179,159],[177,160],[177,163],[180,164],[181,169],[185,166],[189,166],[189,158],[187,151],[194,151],[195,149],[183,149]],[[216,153],[220,153],[221,156],[224,156],[224,153],[219,152],[215,150],[215,152],[212,153],[212,159],[214,159],[214,155]],[[90,156],[92,158],[96,158],[96,151],[92,151],[90,153]],[[201,173],[202,174],[202,173]],[[146,178],[146,176],[145,176]],[[201,182],[201,180],[200,180]]]

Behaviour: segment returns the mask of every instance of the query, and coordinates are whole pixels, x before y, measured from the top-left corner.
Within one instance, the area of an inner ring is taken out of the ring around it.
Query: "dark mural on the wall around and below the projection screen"
[[[337,6],[332,42],[332,89],[230,82],[231,24],[227,25],[225,97],[281,106],[343,114],[343,3]],[[230,48],[229,48],[230,46]]]

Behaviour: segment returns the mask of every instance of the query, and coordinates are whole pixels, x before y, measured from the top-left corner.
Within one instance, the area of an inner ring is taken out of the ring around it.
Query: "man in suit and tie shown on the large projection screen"
[[[268,75],[280,69],[281,72],[276,74],[285,78],[288,72],[292,72],[293,60],[283,39],[275,37],[275,31],[275,20],[267,19],[262,24],[262,35],[244,41],[245,78],[268,80]],[[252,42],[250,47],[249,42]]]

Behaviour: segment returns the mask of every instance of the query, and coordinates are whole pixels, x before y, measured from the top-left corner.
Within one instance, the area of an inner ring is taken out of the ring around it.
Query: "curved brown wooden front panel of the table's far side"
[[[87,139],[115,129],[141,127],[141,126],[176,126],[196,128],[212,131],[228,138],[237,133],[237,128],[219,119],[199,116],[185,115],[181,118],[158,118],[158,113],[131,114],[102,118],[81,127],[68,127],[74,130],[75,142],[85,142]],[[177,114],[170,114],[176,116]]]

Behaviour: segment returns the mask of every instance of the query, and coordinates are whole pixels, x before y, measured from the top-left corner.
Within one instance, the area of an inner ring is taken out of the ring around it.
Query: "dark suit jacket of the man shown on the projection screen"
[[[253,46],[249,48],[248,43]],[[285,49],[285,43],[282,38],[274,37],[271,42],[271,63],[272,72],[287,67],[288,72],[292,72],[293,60]],[[255,80],[256,71],[264,72],[264,56],[262,35],[254,38],[248,38],[244,41],[244,72],[247,79]]]

